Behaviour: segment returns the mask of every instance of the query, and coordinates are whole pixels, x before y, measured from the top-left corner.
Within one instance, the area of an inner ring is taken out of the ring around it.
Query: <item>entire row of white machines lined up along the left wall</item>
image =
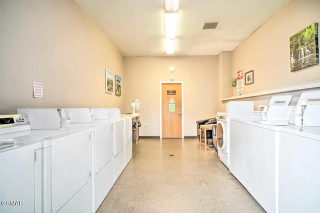
[[[0,199],[23,205],[0,212],[95,212],[132,158],[131,118],[106,108],[17,111],[0,117]]]

